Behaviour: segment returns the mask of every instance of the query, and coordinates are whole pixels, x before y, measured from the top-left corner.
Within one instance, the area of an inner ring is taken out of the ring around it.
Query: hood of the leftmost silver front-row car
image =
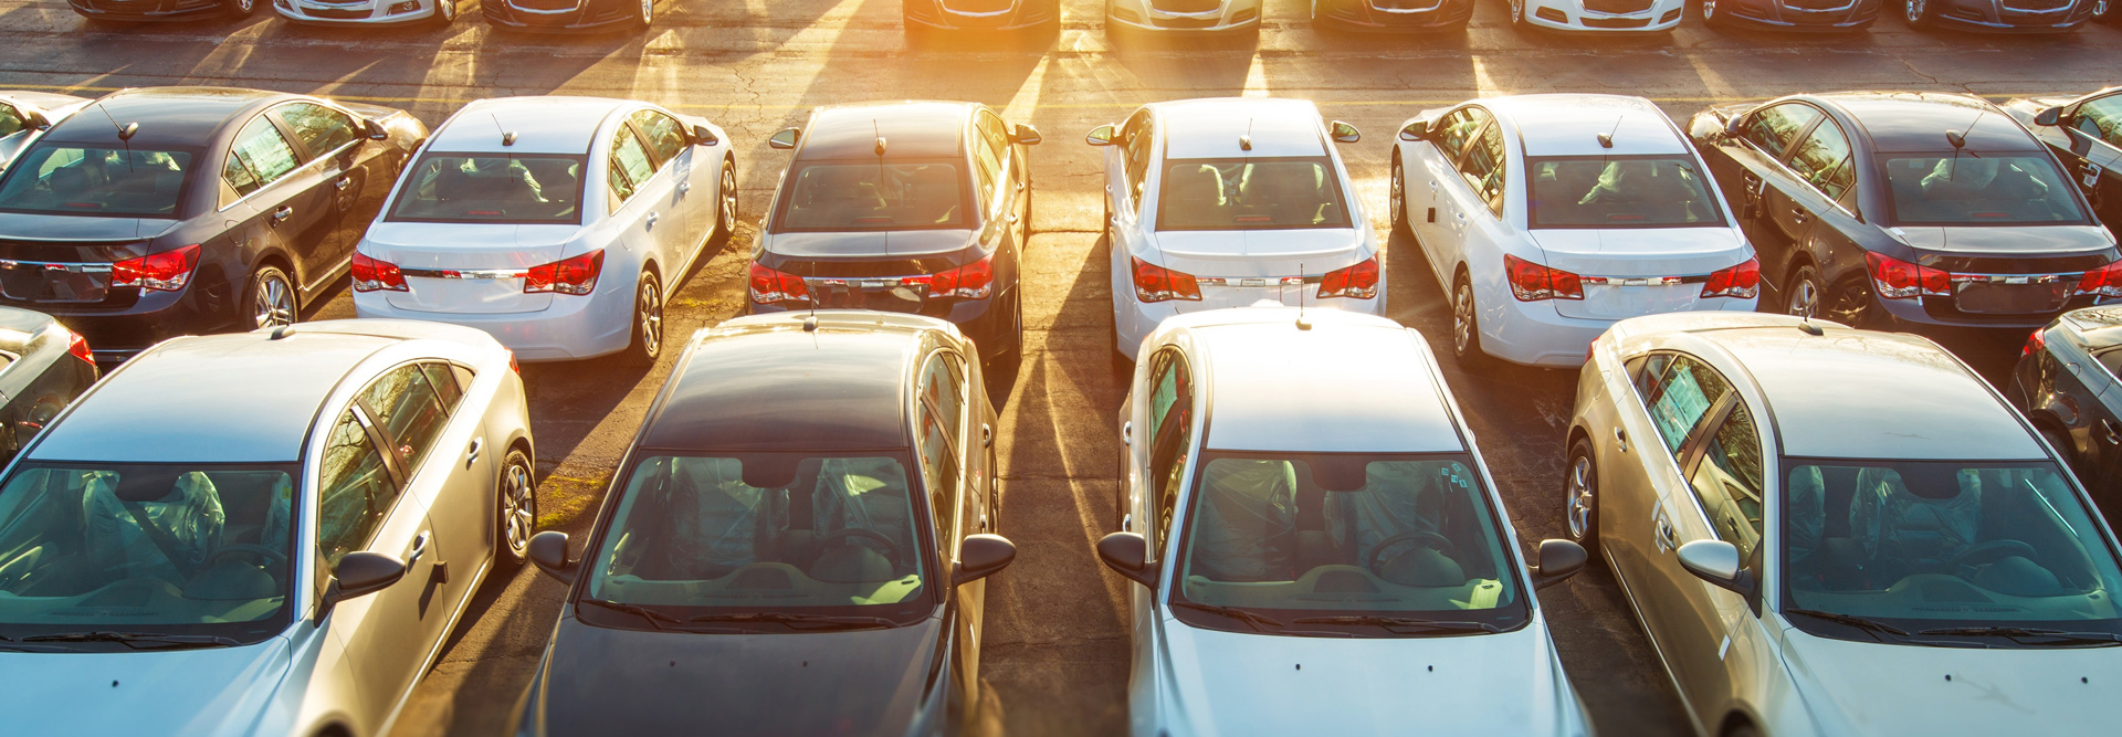
[[[15,735],[244,735],[289,671],[289,641],[172,652],[0,652]]]

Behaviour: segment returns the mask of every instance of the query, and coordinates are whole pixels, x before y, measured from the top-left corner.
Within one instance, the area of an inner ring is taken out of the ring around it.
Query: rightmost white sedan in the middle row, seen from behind
[[[1649,100],[1483,98],[1398,138],[1392,223],[1449,295],[1460,361],[1581,365],[1621,319],[1755,308],[1753,246]]]

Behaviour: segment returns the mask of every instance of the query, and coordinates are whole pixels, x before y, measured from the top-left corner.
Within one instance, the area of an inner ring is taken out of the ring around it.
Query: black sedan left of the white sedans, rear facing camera
[[[117,361],[295,321],[346,274],[427,127],[403,110],[223,87],[115,91],[0,176],[0,306]]]

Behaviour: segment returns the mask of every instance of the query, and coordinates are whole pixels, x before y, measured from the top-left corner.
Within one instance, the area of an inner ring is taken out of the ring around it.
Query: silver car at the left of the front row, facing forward
[[[0,480],[15,735],[380,735],[535,520],[522,380],[467,327],[149,348]]]

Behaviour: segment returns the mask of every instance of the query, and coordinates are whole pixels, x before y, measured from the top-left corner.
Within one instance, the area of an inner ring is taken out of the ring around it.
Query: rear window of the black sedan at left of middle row
[[[176,217],[189,151],[45,142],[0,181],[0,212]]]

